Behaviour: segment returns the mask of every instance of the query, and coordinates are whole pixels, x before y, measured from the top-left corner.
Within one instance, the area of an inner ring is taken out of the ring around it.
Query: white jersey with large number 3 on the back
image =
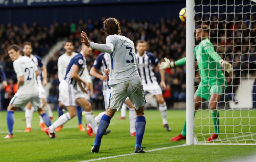
[[[134,43],[121,35],[109,35],[107,45],[113,45],[109,54],[110,74],[109,86],[139,78],[138,63],[135,57]]]

